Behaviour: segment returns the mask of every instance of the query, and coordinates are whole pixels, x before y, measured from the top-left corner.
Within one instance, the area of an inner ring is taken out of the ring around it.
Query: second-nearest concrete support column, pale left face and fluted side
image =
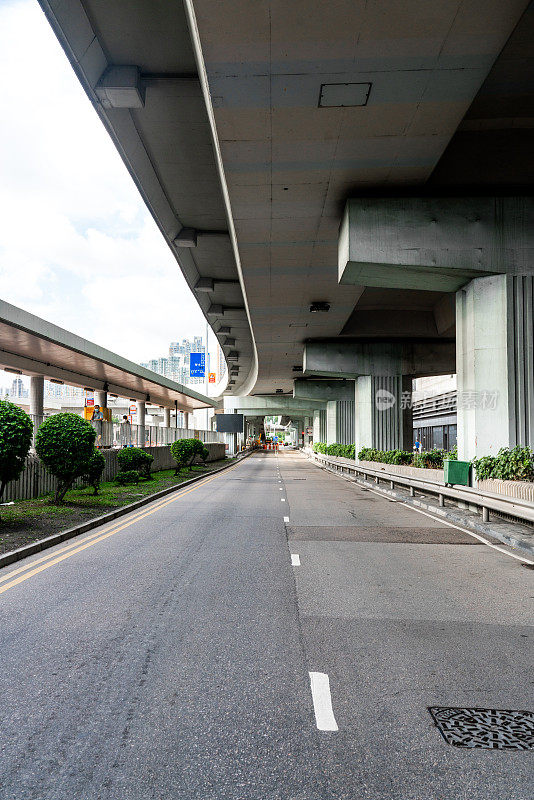
[[[355,449],[411,450],[412,381],[408,376],[364,375],[356,379]]]

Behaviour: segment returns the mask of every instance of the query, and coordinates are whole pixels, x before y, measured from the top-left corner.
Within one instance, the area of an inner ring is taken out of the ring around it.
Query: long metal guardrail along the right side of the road
[[[464,503],[470,510],[477,510],[482,514],[482,522],[489,521],[490,512],[505,514],[509,517],[521,520],[522,522],[534,523],[534,504],[517,498],[507,498],[493,492],[481,492],[469,486],[456,488],[455,486],[445,486],[437,481],[429,481],[423,478],[410,478],[404,475],[395,475],[383,469],[375,470],[369,467],[362,467],[359,464],[347,464],[346,461],[338,460],[332,456],[325,456],[322,453],[312,453],[310,455],[314,461],[322,464],[331,472],[341,475],[359,474],[363,475],[364,480],[368,477],[374,478],[377,485],[381,481],[387,482],[391,489],[395,486],[405,486],[410,491],[410,496],[415,497],[416,491],[421,494],[432,494],[438,498],[440,506],[445,505],[445,500],[454,500],[457,503]]]

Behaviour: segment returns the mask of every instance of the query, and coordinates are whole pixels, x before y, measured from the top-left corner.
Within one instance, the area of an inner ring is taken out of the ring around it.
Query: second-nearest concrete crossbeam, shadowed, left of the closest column
[[[358,375],[410,375],[414,378],[456,371],[454,342],[308,342],[306,375],[355,378]]]

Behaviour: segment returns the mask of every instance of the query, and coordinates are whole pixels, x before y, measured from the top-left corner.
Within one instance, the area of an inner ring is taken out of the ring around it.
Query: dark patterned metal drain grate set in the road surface
[[[428,709],[448,744],[484,750],[534,750],[534,713],[493,708]]]

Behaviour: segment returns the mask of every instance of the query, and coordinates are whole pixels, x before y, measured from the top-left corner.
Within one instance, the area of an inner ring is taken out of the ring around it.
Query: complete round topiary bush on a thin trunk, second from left
[[[37,455],[57,479],[55,501],[60,503],[72,484],[84,474],[95,450],[96,431],[76,414],[48,417],[35,439]]]

